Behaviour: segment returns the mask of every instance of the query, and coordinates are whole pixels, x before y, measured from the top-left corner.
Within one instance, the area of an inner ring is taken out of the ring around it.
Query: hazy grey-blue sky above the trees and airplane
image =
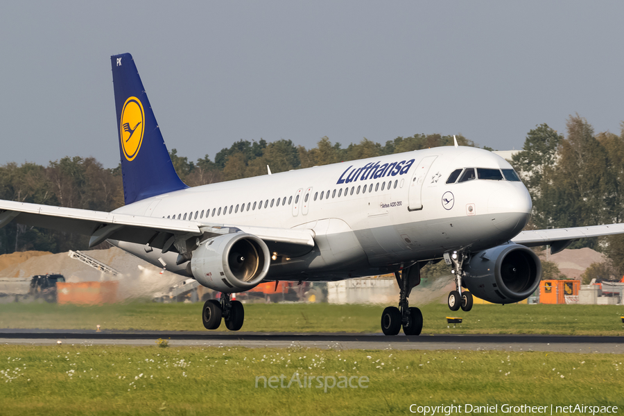
[[[624,120],[621,1],[3,1],[0,164],[119,163],[110,55],[130,52],[168,148],[314,147]],[[619,57],[619,58],[618,58]]]

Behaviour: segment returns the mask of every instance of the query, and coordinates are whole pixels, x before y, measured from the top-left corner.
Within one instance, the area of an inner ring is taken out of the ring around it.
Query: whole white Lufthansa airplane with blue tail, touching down
[[[532,202],[512,166],[487,150],[444,146],[229,182],[180,180],[130,53],[111,67],[125,205],[112,212],[0,200],[0,227],[15,221],[90,236],[220,292],[202,323],[243,326],[232,293],[265,281],[338,281],[393,273],[399,303],[381,315],[385,335],[419,335],[422,312],[408,297],[420,269],[445,261],[455,283],[451,311],[473,295],[519,302],[539,286],[530,247],[564,250],[624,224],[522,231]],[[134,126],[134,127],[131,127]],[[463,289],[466,288],[467,291]]]

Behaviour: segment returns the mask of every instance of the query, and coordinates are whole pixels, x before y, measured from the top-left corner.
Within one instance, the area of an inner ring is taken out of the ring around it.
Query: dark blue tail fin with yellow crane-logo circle
[[[125,204],[187,188],[175,173],[132,55],[113,55],[110,63]]]

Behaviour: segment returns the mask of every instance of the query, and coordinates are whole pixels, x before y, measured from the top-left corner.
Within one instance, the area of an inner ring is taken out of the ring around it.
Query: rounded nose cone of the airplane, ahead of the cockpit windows
[[[531,215],[531,197],[524,186],[519,184],[504,184],[490,194],[487,201],[487,210],[492,216],[492,225],[501,232],[516,235],[519,233]]]

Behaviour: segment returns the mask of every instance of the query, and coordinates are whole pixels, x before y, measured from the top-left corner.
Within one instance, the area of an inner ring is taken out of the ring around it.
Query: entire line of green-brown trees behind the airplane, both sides
[[[461,146],[476,146],[457,135]],[[566,134],[546,124],[526,136],[512,165],[521,175],[533,199],[529,228],[578,227],[619,223],[624,218],[624,127],[620,135],[596,134],[578,114],[570,116]],[[266,175],[311,166],[378,157],[437,146],[452,146],[453,136],[413,135],[379,144],[363,139],[343,147],[328,137],[315,148],[296,146],[291,140],[268,143],[240,140],[196,161],[170,152],[182,181],[191,187],[202,184]],[[487,150],[493,150],[487,148]],[[108,169],[93,157],[64,157],[48,166],[15,163],[0,166],[0,199],[56,205],[96,211],[112,211],[123,205],[121,165]],[[87,237],[11,223],[0,229],[0,254],[25,250],[64,252],[87,247]],[[585,239],[571,248],[590,247],[609,258],[613,275],[624,274],[624,238]],[[546,275],[561,276],[552,265]]]

